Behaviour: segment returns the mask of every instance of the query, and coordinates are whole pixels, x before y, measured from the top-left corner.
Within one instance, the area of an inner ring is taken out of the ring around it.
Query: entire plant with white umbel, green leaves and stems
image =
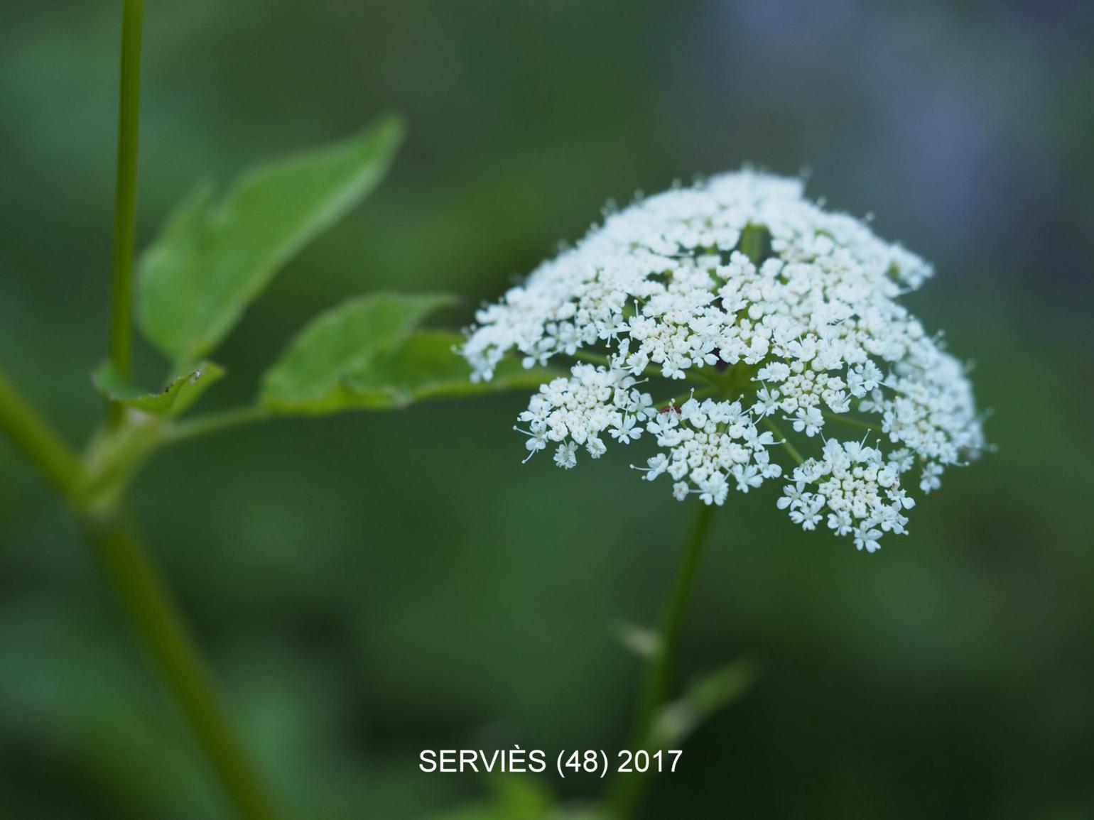
[[[753,678],[748,664],[735,663],[683,692],[674,683],[711,513],[731,493],[779,481],[777,506],[794,524],[874,552],[884,536],[907,531],[917,491],[938,489],[945,468],[984,448],[965,367],[900,302],[930,266],[863,222],[808,202],[800,180],[753,172],[609,214],[482,307],[465,333],[421,327],[453,304],[446,294],[353,296],[288,340],[253,401],[196,410],[229,377],[216,360],[220,343],[284,263],[373,190],[403,125],[384,117],[223,188],[198,185],[138,259],[143,5],[124,0],[123,9],[109,343],[92,376],[105,418],[78,450],[0,372],[0,431],[80,522],[241,817],[292,812],[233,731],[128,512],[129,488],[163,447],[287,415],[524,388],[536,389],[516,424],[527,458],[549,450],[570,469],[613,442],[655,448],[635,469],[680,501],[695,496],[698,517],[659,629],[622,630],[649,660],[631,750],[678,746]],[[151,387],[133,379],[135,325],[166,362]],[[497,806],[458,817],[563,816],[537,787],[498,783]],[[617,777],[603,805],[581,817],[629,817],[644,783],[641,772]]]

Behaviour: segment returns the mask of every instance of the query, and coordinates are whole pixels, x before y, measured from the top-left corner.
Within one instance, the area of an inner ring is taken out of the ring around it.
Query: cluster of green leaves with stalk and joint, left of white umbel
[[[265,372],[253,405],[182,420],[225,375],[208,356],[278,270],[375,188],[403,130],[398,118],[383,117],[340,144],[255,168],[219,197],[202,183],[175,209],[138,273],[140,328],[171,362],[168,378],[150,391],[109,363],[95,372],[96,388],[124,412],[89,450],[91,506],[115,504],[148,458],[174,441],[261,419],[534,386],[548,376],[509,361],[492,382],[473,384],[454,351],[462,337],[420,328],[453,296],[374,293],[305,326]]]

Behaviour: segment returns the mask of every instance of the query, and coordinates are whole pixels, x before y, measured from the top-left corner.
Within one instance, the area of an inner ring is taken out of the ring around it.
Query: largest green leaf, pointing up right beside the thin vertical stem
[[[245,174],[219,199],[199,185],[140,265],[140,324],[176,365],[219,344],[277,270],[384,176],[403,137],[385,117],[358,137]]]

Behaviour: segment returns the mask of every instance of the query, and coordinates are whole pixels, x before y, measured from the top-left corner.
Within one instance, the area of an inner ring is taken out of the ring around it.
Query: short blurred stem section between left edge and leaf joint
[[[0,430],[66,500],[75,503],[82,483],[80,459],[0,370]]]

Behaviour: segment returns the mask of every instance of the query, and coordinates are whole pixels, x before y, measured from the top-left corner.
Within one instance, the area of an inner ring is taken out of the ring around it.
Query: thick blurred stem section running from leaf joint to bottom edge
[[[131,526],[89,524],[88,538],[106,576],[190,730],[240,817],[279,817],[232,730],[212,675]]]

